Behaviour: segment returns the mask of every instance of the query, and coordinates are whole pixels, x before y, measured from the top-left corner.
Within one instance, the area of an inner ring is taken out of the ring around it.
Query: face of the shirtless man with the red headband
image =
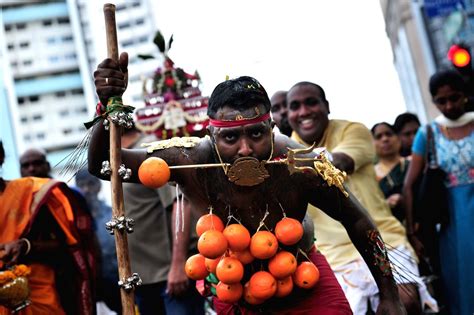
[[[257,114],[253,108],[238,111],[225,106],[219,109],[216,117],[219,120],[235,120],[237,115],[253,118]],[[210,127],[210,131],[223,162],[233,163],[241,157],[265,160],[270,156],[273,134],[269,120],[239,127]]]

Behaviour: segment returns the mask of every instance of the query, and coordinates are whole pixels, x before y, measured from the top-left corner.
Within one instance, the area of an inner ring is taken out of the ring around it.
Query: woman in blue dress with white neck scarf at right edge
[[[441,277],[450,314],[474,313],[474,113],[466,112],[466,84],[455,70],[434,74],[430,79],[433,103],[441,115],[430,123],[437,164],[447,174],[447,224],[439,231]],[[427,128],[418,130],[412,160],[404,184],[407,234],[419,255],[423,245],[415,235],[413,220],[414,183],[422,174],[427,151]]]

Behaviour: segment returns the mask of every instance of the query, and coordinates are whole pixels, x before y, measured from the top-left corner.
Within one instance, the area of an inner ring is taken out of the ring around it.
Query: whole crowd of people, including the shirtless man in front
[[[126,69],[126,54],[98,66],[94,77],[101,104],[125,92]],[[132,176],[123,184],[124,208],[136,221],[128,250],[132,270],[143,281],[135,290],[138,312],[472,314],[474,113],[466,112],[466,85],[456,71],[434,74],[429,87],[441,114],[424,126],[415,114],[403,113],[393,124],[379,122],[369,130],[330,119],[329,97],[316,83],[298,82],[269,97],[256,79],[239,77],[214,89],[208,136],[190,146],[176,141],[146,151],[139,145],[156,139],[134,128],[125,131],[122,161]],[[31,305],[19,314],[94,314],[98,302],[110,314],[121,314],[115,244],[104,228],[112,211],[98,197],[99,178],[109,179],[101,173],[108,138],[97,124],[88,169],[77,173],[75,187],[51,178],[46,153],[38,149],[20,157],[23,178],[0,178],[0,270],[18,263],[32,270]],[[326,166],[335,167],[333,176],[345,178],[344,185],[313,174],[290,175],[278,166],[267,167],[268,176],[247,186],[231,182],[225,168],[173,170],[171,181],[181,196],[170,185],[145,187],[137,176],[150,156],[169,165],[233,164],[243,157],[271,161],[289,148],[313,144],[318,151],[307,157],[324,148],[331,165]],[[0,164],[4,159],[0,142]],[[432,167],[446,174],[447,219],[427,238],[423,231],[432,220],[420,202],[420,183]],[[184,215],[177,213],[179,207]],[[280,209],[309,222],[305,233],[311,241],[300,248],[318,267],[318,284],[259,307],[199,294],[184,264],[197,252],[196,219],[210,208],[224,222],[238,217],[251,234],[261,220],[272,230]],[[178,215],[185,218],[182,233],[174,223]],[[0,306],[0,314],[9,310]]]

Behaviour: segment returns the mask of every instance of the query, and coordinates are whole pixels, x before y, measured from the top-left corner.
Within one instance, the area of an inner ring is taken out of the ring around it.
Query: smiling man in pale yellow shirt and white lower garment
[[[436,301],[415,276],[419,274],[416,256],[405,228],[391,214],[375,179],[370,131],[360,123],[329,120],[329,102],[324,90],[314,83],[294,85],[288,91],[287,103],[292,138],[307,146],[316,143],[317,147],[325,147],[333,164],[349,175],[347,187],[369,211],[387,244],[400,297],[408,313],[420,312],[418,294],[422,303],[437,308]],[[375,311],[377,286],[343,226],[311,205],[308,212],[315,222],[316,244],[334,270],[354,313],[365,314],[368,301]]]

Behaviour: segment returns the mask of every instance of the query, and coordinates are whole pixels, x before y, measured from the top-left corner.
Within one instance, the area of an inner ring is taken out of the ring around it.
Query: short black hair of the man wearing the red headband
[[[267,92],[256,79],[243,76],[216,86],[209,98],[207,115],[215,118],[217,111],[226,105],[242,111],[260,104],[265,106],[266,112],[270,111],[271,104]]]

